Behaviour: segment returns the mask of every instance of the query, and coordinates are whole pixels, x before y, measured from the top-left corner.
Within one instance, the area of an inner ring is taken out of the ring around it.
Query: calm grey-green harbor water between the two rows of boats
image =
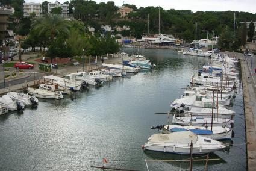
[[[137,49],[122,52],[137,54]],[[0,116],[0,170],[100,170],[90,166],[123,169],[188,170],[189,162],[152,161],[188,159],[187,155],[143,151],[141,146],[158,132],[151,126],[167,124],[170,102],[180,98],[192,73],[210,60],[168,49],[140,49],[157,65],[136,75],[117,78],[103,87],[65,96],[40,99],[37,108]],[[234,138],[230,146],[210,154],[209,170],[246,170],[245,121],[242,83],[233,100]],[[194,158],[206,158],[195,155]],[[193,170],[204,170],[195,161]]]

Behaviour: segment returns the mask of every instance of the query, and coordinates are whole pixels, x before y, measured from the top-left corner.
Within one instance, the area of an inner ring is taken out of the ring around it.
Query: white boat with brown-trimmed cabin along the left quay
[[[70,87],[62,87],[57,83],[51,82],[39,83],[39,89],[49,90],[53,92],[61,92],[63,95],[70,95],[73,92],[72,90],[70,90]]]

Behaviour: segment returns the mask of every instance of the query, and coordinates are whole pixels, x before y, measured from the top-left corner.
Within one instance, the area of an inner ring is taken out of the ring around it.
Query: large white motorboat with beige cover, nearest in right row
[[[193,134],[191,131],[183,131],[151,135],[142,148],[150,151],[190,154],[191,142],[193,143],[193,154],[205,154],[226,147],[223,143],[211,138]]]

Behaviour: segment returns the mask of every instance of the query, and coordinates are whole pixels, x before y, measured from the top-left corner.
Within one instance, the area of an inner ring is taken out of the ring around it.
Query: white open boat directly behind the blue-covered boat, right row
[[[187,126],[211,126],[211,117],[195,117],[183,114],[174,114],[172,123]],[[217,118],[213,117],[213,126],[226,126],[232,127],[234,123],[233,119]]]

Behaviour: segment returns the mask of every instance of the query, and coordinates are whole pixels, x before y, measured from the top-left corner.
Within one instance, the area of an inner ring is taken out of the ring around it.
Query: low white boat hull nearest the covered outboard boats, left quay
[[[61,92],[52,92],[50,90],[34,89],[31,87],[28,87],[28,94],[42,99],[63,99]]]

